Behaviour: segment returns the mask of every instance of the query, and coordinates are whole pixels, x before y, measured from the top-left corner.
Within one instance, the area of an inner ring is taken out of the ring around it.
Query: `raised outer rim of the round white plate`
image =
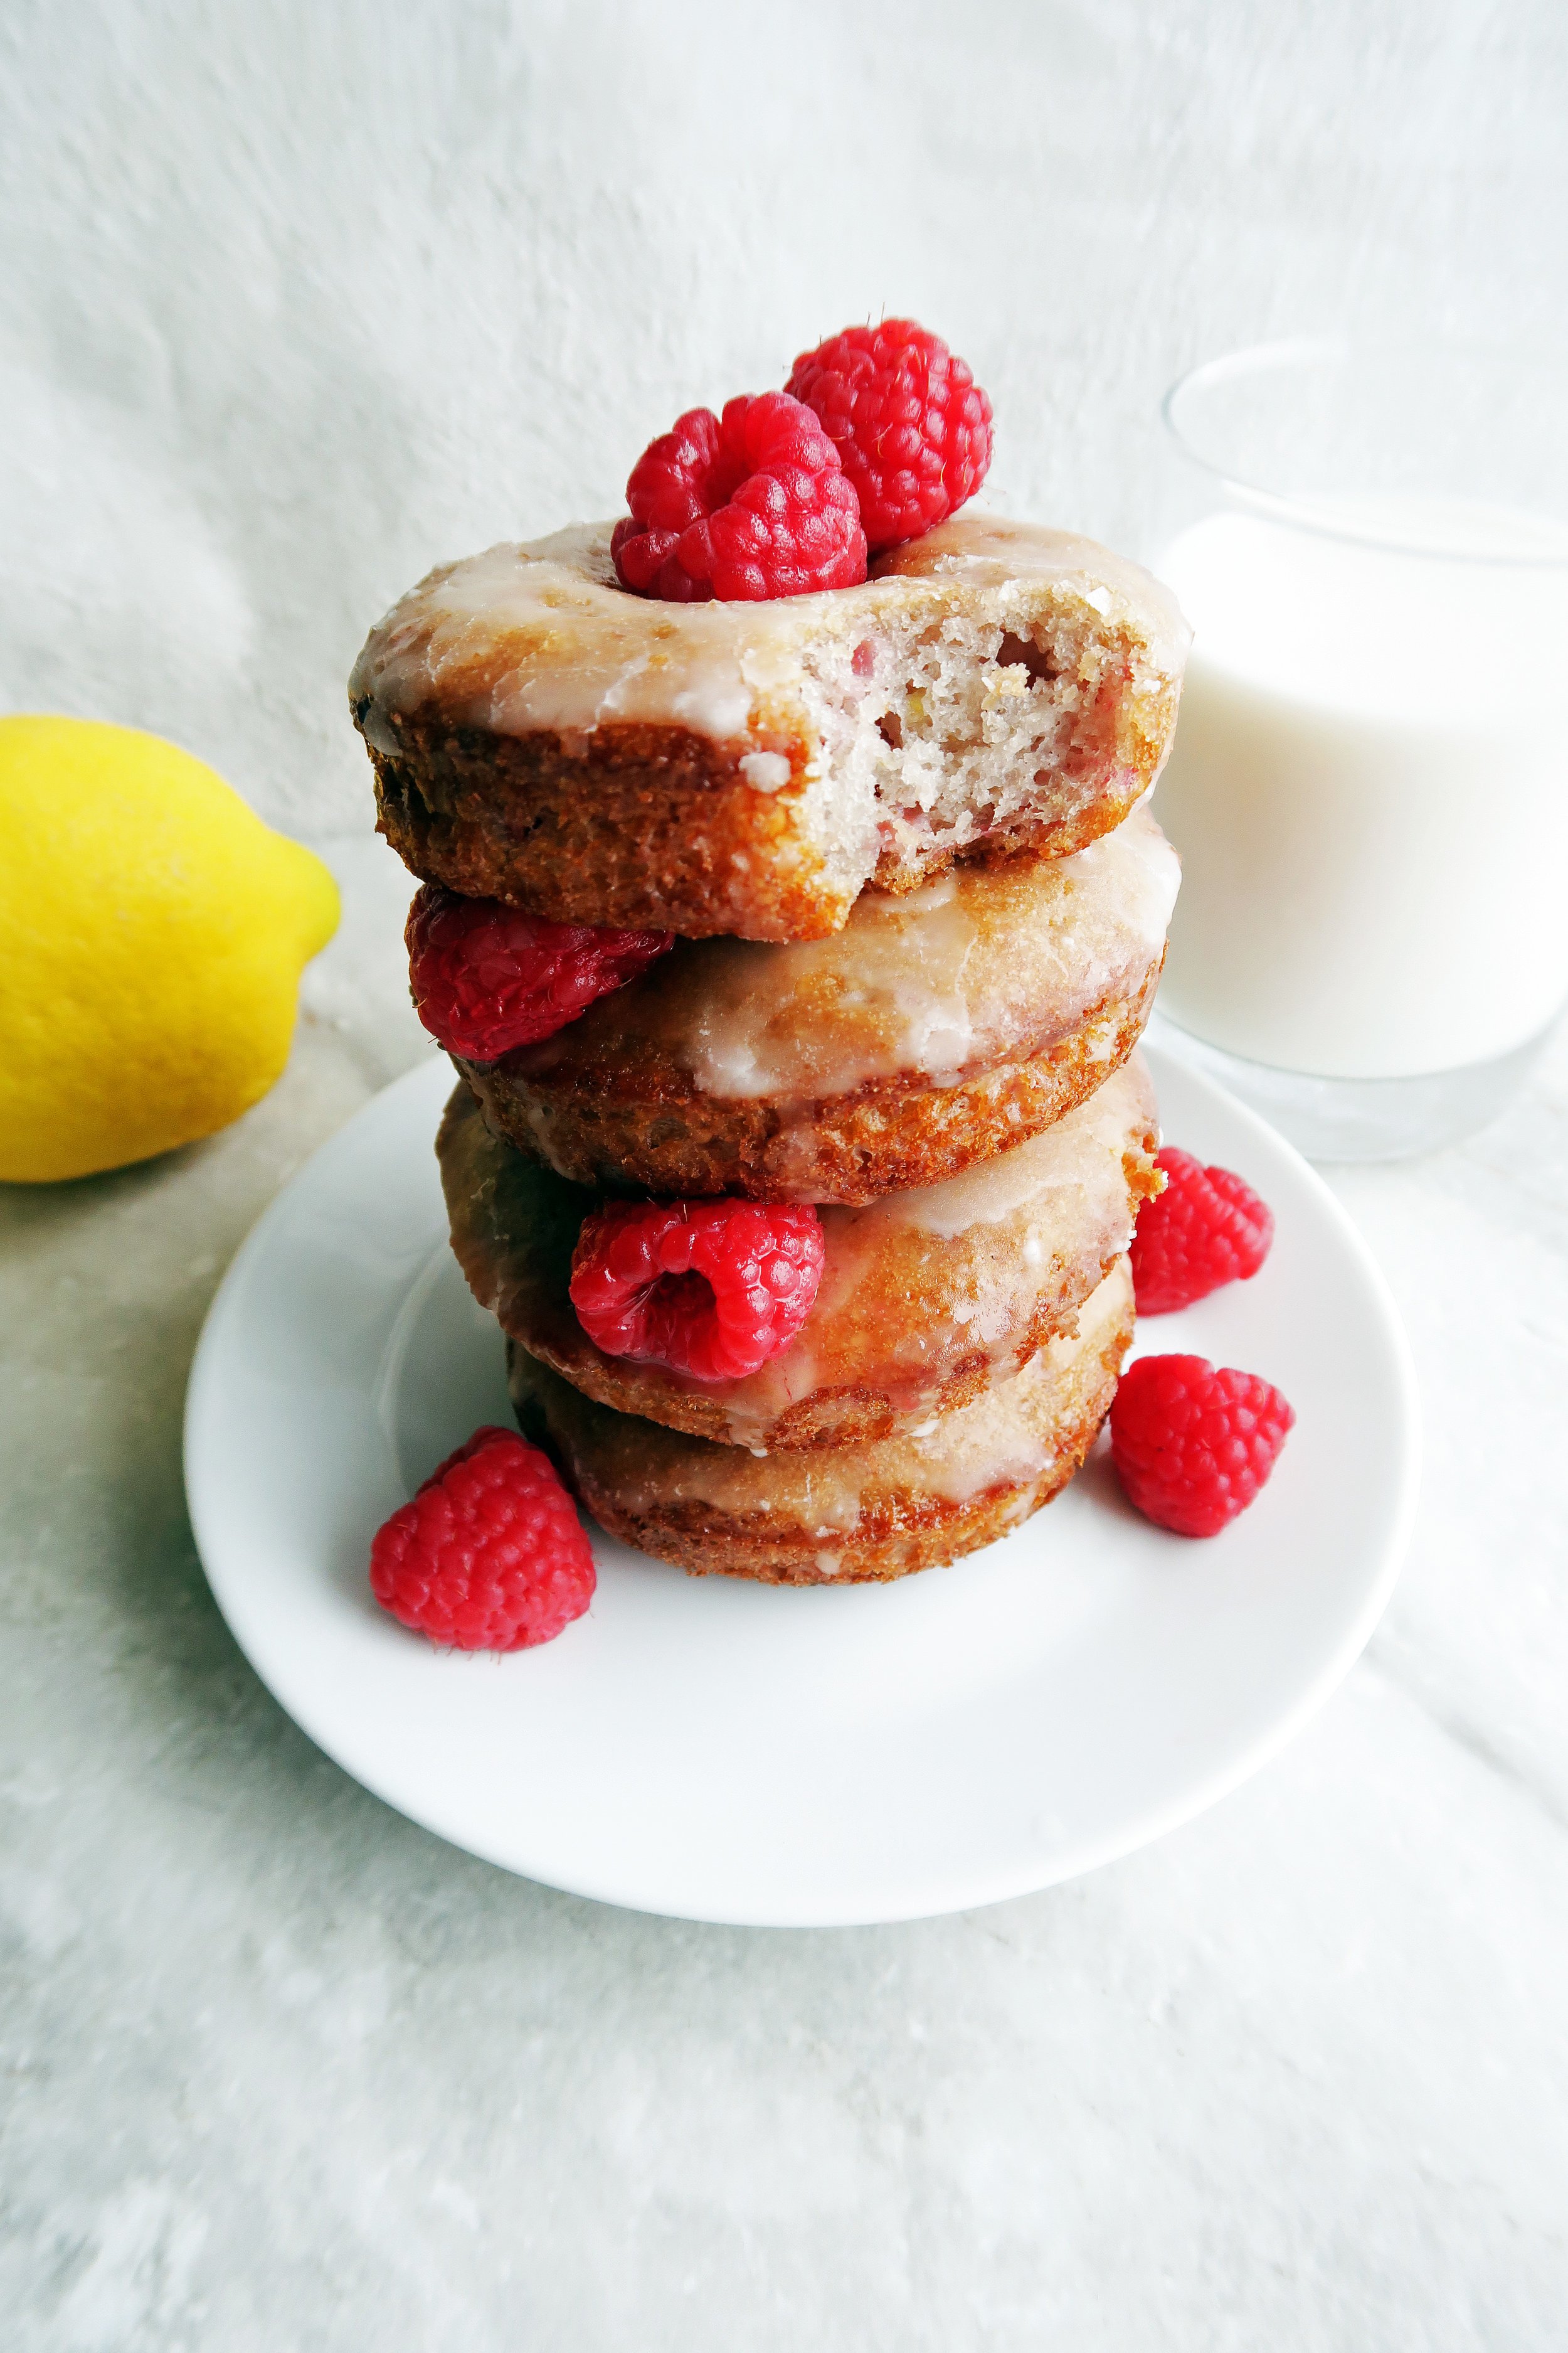
[[[186,1384],[186,1409],[183,1409],[181,1459],[186,1480],[186,1504],[207,1588],[233,1640],[237,1642],[240,1652],[252,1666],[252,1673],[256,1673],[268,1694],[284,1711],[284,1715],[289,1715],[289,1720],[299,1725],[306,1739],[310,1739],[327,1758],[331,1758],[331,1762],[341,1772],[346,1772],[353,1781],[367,1788],[381,1805],[388,1805],[393,1812],[418,1824],[418,1828],[428,1831],[430,1835],[442,1838],[458,1852],[475,1854],[491,1868],[510,1871],[517,1878],[531,1878],[536,1885],[555,1887],[562,1894],[581,1897],[597,1904],[611,1904],[623,1911],[639,1911],[654,1918],[693,1920],[703,1925],[778,1927],[778,1929],[875,1927],[875,1925],[896,1925],[905,1920],[943,1918],[961,1911],[978,1911],[990,1904],[1004,1904],[1023,1894],[1037,1894],[1046,1887],[1065,1885],[1067,1880],[1081,1878],[1088,1871],[1098,1871],[1105,1864],[1114,1864],[1121,1857],[1133,1854],[1159,1838],[1166,1838],[1171,1831],[1182,1828],[1182,1824],[1194,1821],[1213,1805],[1220,1805],[1244,1781],[1248,1781],[1255,1772],[1260,1772],[1267,1762],[1272,1762],[1272,1758],[1279,1755],[1305,1729],[1305,1725],[1319,1713],[1319,1708],[1326,1706],[1326,1701],[1333,1697],[1333,1692],[1340,1687],[1340,1682],[1347,1678],[1347,1673],[1366,1649],[1382,1612],[1387,1609],[1389,1595],[1399,1581],[1410,1546],[1415,1511],[1420,1501],[1420,1471],[1422,1471],[1420,1384],[1415,1374],[1410,1341],[1403,1329],[1403,1318],[1399,1315],[1399,1306],[1394,1301],[1387,1275],[1382,1273],[1382,1266],[1378,1264],[1366,1235],[1354,1224],[1349,1209],[1340,1202],[1340,1198],[1326,1184],[1319,1169],[1312,1167],[1312,1162],[1307,1162],[1295,1151],[1295,1146],[1291,1146],[1288,1139],[1281,1136],[1279,1129],[1272,1127],[1260,1113],[1255,1113],[1248,1104],[1229,1094],[1218,1080],[1213,1080],[1199,1066],[1190,1064],[1180,1052],[1173,1052],[1166,1040],[1145,1038],[1140,1042],[1140,1052],[1150,1061],[1157,1087],[1161,1066],[1180,1071],[1182,1082],[1192,1085],[1201,1096],[1218,1101],[1222,1106],[1225,1118],[1237,1120],[1246,1132],[1260,1136],[1269,1153],[1284,1153],[1288,1155],[1291,1162],[1295,1162],[1298,1181],[1300,1179],[1307,1181],[1307,1191],[1316,1198],[1319,1209],[1326,1212],[1331,1228],[1335,1228],[1340,1247],[1354,1261],[1361,1285],[1378,1311],[1378,1327],[1382,1332],[1389,1355],[1392,1407],[1401,1440],[1399,1480],[1394,1487],[1394,1508],[1389,1513],[1387,1534],[1382,1541],[1382,1555],[1378,1560],[1375,1574],[1368,1577],[1359,1607],[1347,1619],[1340,1640],[1333,1645],[1333,1649],[1328,1652],[1319,1671],[1312,1675],[1312,1680],[1295,1697],[1295,1701],[1288,1708],[1284,1708],[1265,1729],[1255,1732],[1251,1741],[1241,1744],[1241,1748],[1232,1758],[1227,1758],[1225,1765],[1211,1769],[1206,1777],[1199,1777],[1194,1784],[1187,1784],[1168,1802],[1157,1802],[1138,1809],[1135,1817],[1128,1819],[1128,1824],[1124,1824],[1119,1831],[1091,1840],[1084,1849],[1072,1849],[1072,1854],[1060,1866],[1046,1861],[1027,1864],[1025,1859],[1020,1859],[1016,1868],[978,1873],[976,1878],[969,1880],[969,1885],[961,1892],[954,1892],[954,1887],[945,1885],[952,1878],[952,1871],[945,1871],[940,1889],[929,1889],[919,1899],[882,1901],[875,1906],[818,1904],[818,1906],[792,1906],[792,1908],[773,1906],[769,1911],[757,1911],[733,1904],[731,1906],[693,1904],[689,1899],[679,1904],[661,1904],[654,1901],[646,1889],[628,1892],[625,1882],[611,1885],[614,1873],[611,1875],[595,1871],[564,1873],[555,1864],[548,1871],[527,1866],[522,1861],[515,1861],[510,1854],[496,1854],[491,1847],[487,1847],[482,1838],[454,1831],[447,1819],[440,1819],[442,1812],[440,1807],[430,1809],[418,1805],[416,1800],[411,1800],[407,1791],[390,1788],[386,1774],[376,1769],[367,1772],[357,1758],[348,1755],[343,1744],[334,1737],[334,1727],[322,1722],[317,1711],[313,1708],[299,1711],[294,1701],[284,1697],[282,1689],[277,1689],[273,1675],[254,1657],[252,1645],[244,1638],[244,1631],[240,1628],[240,1624],[235,1624],[235,1614],[230,1612],[223,1593],[221,1572],[214,1574],[209,1560],[209,1548],[212,1553],[221,1553],[223,1539],[216,1529],[216,1511],[209,1504],[207,1480],[202,1468],[205,1421],[212,1412],[216,1412],[221,1353],[230,1339],[230,1325],[240,1313],[237,1301],[249,1280],[249,1271],[256,1264],[256,1259],[266,1254],[277,1226],[287,1224],[289,1214],[294,1212],[296,1191],[301,1188],[303,1179],[308,1179],[310,1172],[317,1172],[320,1181],[320,1165],[346,1144],[350,1129],[355,1129],[374,1111],[388,1106],[390,1096],[400,1094],[414,1096],[421,1089],[435,1092],[433,1078],[437,1073],[442,1075],[442,1085],[447,1085],[444,1056],[440,1054],[423,1056],[400,1078],[390,1080],[390,1085],[371,1094],[364,1104],[360,1104],[355,1113],[350,1113],[348,1120],[343,1120],[341,1127],[336,1127],[308,1155],[308,1160],[301,1162],[299,1169],[294,1169],[294,1174],[287,1179],[284,1186],[280,1186],[280,1191],[273,1195],[273,1200],[266,1205],[266,1209],[259,1214],[259,1219],[240,1242],[235,1257],[223,1271],[223,1280],[219,1282],[212,1304],[207,1308],[207,1315],[202,1320],[202,1332],[190,1360],[190,1374]],[[374,1400],[371,1400],[371,1412],[374,1412]]]

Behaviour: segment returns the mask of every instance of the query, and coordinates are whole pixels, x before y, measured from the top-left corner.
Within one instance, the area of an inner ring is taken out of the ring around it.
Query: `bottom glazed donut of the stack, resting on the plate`
[[[764,1459],[595,1405],[508,1346],[524,1435],[599,1527],[696,1574],[764,1584],[907,1577],[1009,1534],[1067,1485],[1133,1339],[1126,1259],[1011,1381],[905,1438]]]

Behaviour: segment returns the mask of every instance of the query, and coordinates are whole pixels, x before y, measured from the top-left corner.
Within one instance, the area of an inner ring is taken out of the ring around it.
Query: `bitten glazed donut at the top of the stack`
[[[1084,847],[1164,765],[1187,626],[1088,539],[964,513],[860,588],[663,605],[616,584],[609,534],[444,565],[371,631],[348,696],[416,875],[820,939],[870,880]]]

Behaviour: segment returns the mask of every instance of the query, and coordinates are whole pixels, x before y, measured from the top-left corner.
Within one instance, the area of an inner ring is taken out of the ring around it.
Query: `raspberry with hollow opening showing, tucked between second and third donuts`
[[[611,1202],[571,1254],[571,1306],[595,1348],[693,1381],[743,1381],[788,1348],[820,1280],[816,1209],[755,1200]]]

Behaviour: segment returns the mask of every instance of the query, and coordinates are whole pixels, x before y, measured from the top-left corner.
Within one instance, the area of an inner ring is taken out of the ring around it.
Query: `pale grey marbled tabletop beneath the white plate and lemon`
[[[16,2353],[1063,2344],[1526,2353],[1568,2294],[1568,1042],[1335,1186],[1429,1466],[1389,1617],[1253,1784],[858,1932],[505,1878],[329,1765],[181,1501],[202,1311],[423,1047],[407,880],[216,1141],[0,1198],[0,2311]]]

